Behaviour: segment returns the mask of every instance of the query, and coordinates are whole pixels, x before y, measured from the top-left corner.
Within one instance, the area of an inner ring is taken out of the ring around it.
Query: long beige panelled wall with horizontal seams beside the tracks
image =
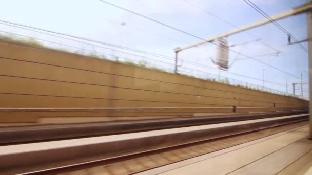
[[[0,42],[0,82],[0,107],[272,107],[274,103],[277,107],[308,105],[305,100],[8,42]],[[0,115],[3,119],[0,122],[33,122],[37,117],[52,114]],[[95,114],[82,116],[91,115]],[[153,114],[105,112],[100,115],[190,114],[166,111]],[[75,115],[55,113],[52,116]]]

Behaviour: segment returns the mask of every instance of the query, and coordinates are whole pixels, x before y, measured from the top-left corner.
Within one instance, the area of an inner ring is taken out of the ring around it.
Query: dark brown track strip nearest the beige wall
[[[304,113],[307,113],[307,110],[263,114],[234,114],[226,116],[152,119],[141,121],[3,127],[0,128],[0,145],[107,136],[157,129],[236,122],[250,119],[264,119]]]

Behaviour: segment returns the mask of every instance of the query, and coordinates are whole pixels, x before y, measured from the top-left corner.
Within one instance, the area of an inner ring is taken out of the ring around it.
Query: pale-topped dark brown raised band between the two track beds
[[[101,161],[114,162],[117,159],[125,159],[128,156],[144,155],[151,151],[177,148],[183,145],[236,136],[306,120],[308,120],[308,114],[301,114],[272,119],[216,124],[214,126],[205,125],[183,129],[167,129],[163,130],[162,133],[151,131],[140,134],[120,135],[120,137],[118,135],[105,136],[105,139],[103,137],[94,138],[96,140],[83,139],[81,140],[83,142],[78,145],[74,143],[74,140],[54,142],[55,147],[50,145],[53,143],[35,143],[28,146],[25,145],[28,147],[28,151],[12,151],[12,148],[25,148],[24,145],[13,145],[0,148],[8,151],[8,153],[4,152],[0,155],[0,162],[2,162],[0,164],[0,172],[8,174],[12,173],[12,170],[15,171],[14,173],[20,170],[18,173],[53,173],[64,168],[81,167]],[[69,145],[64,145],[64,143]],[[50,148],[40,147],[43,145],[49,145],[48,147]],[[29,146],[33,148],[30,149]]]

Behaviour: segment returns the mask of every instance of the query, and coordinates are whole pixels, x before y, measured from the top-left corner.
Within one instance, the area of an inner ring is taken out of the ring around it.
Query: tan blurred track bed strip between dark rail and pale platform
[[[77,164],[75,166],[60,167],[43,171],[47,174],[150,174],[148,170],[159,168],[164,165],[180,162],[183,160],[199,157],[213,151],[218,151],[228,147],[247,143],[267,136],[285,132],[289,129],[297,129],[307,125],[308,122],[299,122],[277,126],[269,129],[258,130],[256,132],[245,133],[232,137],[224,137],[209,141],[177,146],[170,149],[149,152],[145,154],[123,157],[115,160],[100,162],[90,162],[88,164]],[[147,172],[146,172],[147,171]],[[146,173],[145,173],[146,172]],[[36,172],[34,174],[40,174]]]

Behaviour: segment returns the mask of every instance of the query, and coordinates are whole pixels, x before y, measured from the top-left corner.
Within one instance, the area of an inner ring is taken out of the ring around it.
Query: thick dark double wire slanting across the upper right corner
[[[271,21],[272,24],[274,24],[276,27],[278,27],[282,32],[293,38],[295,41],[298,42],[298,45],[303,49],[306,53],[308,50],[293,36],[291,33],[289,33],[285,28],[283,28],[280,24],[277,23],[276,20],[272,19],[268,14],[266,14],[263,10],[261,10],[257,5],[253,4],[250,0],[244,0],[246,4],[248,4],[250,7],[258,11],[262,16],[267,18],[269,21]]]

